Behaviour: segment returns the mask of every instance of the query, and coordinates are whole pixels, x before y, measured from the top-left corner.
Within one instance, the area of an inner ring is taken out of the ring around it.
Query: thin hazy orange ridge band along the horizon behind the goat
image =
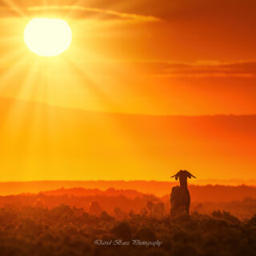
[[[0,194],[45,194],[49,196],[120,196],[126,198],[141,197],[143,194],[154,194],[157,197],[169,198],[171,188],[178,182],[157,181],[42,181],[42,182],[1,182]],[[254,186],[222,185],[189,185],[192,201],[229,202],[256,198]]]

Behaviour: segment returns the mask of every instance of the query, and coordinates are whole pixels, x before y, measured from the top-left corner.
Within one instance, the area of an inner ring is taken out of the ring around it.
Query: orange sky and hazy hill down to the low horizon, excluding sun
[[[0,181],[256,178],[256,4],[6,0],[0,13]],[[34,17],[69,22],[69,50],[31,53]]]

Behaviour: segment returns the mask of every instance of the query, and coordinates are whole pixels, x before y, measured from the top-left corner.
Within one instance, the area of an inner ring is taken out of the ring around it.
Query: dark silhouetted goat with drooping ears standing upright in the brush
[[[187,189],[187,178],[195,178],[194,175],[190,174],[187,170],[180,170],[174,176],[178,180],[180,186],[174,186],[170,194],[170,216],[174,216],[179,212],[185,210],[188,214],[190,212],[190,192]]]

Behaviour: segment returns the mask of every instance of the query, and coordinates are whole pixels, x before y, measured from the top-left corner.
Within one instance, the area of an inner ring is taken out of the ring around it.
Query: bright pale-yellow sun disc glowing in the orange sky
[[[62,54],[71,43],[72,31],[62,19],[33,18],[24,31],[26,46],[40,56]]]

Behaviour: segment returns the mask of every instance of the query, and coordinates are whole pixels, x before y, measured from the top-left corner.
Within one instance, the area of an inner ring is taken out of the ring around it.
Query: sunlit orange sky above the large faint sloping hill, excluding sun
[[[252,1],[2,1],[0,11],[2,96],[124,113],[256,112]],[[30,53],[23,30],[34,17],[70,23],[65,54]]]

